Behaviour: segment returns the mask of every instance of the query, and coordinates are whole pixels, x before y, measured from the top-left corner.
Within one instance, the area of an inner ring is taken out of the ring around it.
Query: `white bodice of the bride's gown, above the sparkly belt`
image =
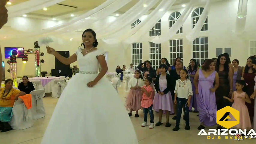
[[[87,53],[86,55],[83,55],[82,49],[79,48],[76,51],[76,55],[80,71],[97,72],[99,70],[99,62],[97,56],[105,56],[105,53],[103,49],[97,49],[95,51]]]

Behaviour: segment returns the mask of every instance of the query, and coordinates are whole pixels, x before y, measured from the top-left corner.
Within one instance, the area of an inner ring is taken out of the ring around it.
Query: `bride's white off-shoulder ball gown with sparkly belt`
[[[41,144],[138,144],[137,136],[116,89],[103,77],[95,86],[101,49],[77,52],[80,73],[65,87]],[[92,73],[94,72],[94,73]]]

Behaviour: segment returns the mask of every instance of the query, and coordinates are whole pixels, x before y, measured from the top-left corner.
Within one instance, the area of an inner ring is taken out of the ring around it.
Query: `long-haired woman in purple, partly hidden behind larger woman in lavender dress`
[[[194,107],[194,113],[198,113],[198,110],[197,110],[197,102],[196,102],[196,88],[195,88],[195,85],[194,85],[194,76],[197,72],[197,70],[199,69],[199,67],[197,67],[197,61],[192,58],[190,61],[189,61],[189,67],[188,67],[188,74],[190,75],[190,81],[191,81],[191,84],[192,84],[192,91],[193,91],[193,95],[191,97],[191,102],[190,102],[190,106],[188,108],[188,110],[190,112],[192,112],[192,107]]]

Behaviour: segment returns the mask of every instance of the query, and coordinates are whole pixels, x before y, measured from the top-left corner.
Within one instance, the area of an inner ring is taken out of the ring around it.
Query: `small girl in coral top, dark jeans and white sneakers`
[[[141,127],[145,127],[148,125],[147,123],[147,117],[148,117],[148,112],[150,115],[150,125],[149,128],[152,129],[154,128],[154,113],[152,110],[153,107],[153,100],[152,100],[152,87],[150,84],[152,83],[152,78],[151,77],[146,77],[144,83],[146,86],[143,86],[141,90],[142,94],[142,101],[141,101],[141,107],[143,107],[143,113],[144,113],[144,122],[141,124]]]

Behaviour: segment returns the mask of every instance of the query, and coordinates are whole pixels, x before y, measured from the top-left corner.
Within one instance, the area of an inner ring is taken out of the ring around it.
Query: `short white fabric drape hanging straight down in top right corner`
[[[235,27],[236,34],[242,34],[242,32],[245,31],[247,3],[248,3],[248,0],[239,0],[237,16],[236,16],[236,27]]]

